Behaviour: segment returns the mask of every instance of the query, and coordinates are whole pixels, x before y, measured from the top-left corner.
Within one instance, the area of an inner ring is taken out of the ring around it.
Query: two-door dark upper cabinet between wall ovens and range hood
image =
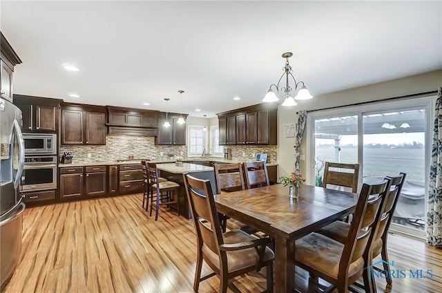
[[[61,144],[106,144],[106,107],[63,104]]]

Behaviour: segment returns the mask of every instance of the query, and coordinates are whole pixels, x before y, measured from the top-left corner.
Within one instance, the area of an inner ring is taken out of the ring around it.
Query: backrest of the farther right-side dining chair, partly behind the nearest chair
[[[391,187],[390,191],[387,192],[387,197],[385,198],[385,206],[383,208],[383,214],[380,219],[381,222],[379,224],[378,231],[376,232],[375,240],[378,240],[388,233],[390,223],[392,222],[394,209],[396,208],[403,183],[405,182],[405,176],[407,176],[407,174],[400,173],[398,176],[386,177],[390,179]]]

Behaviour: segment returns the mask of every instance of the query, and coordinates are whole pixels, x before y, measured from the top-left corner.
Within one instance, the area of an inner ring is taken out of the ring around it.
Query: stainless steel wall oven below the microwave
[[[25,156],[20,189],[37,191],[57,188],[57,156]]]

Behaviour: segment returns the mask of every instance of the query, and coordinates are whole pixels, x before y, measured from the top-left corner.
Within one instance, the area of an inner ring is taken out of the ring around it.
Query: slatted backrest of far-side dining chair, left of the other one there
[[[213,164],[215,171],[216,193],[245,189],[244,176],[240,163]]]

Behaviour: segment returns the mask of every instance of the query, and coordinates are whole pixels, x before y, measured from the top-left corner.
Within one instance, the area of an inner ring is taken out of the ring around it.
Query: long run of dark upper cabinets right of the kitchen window
[[[220,145],[278,143],[278,104],[258,104],[217,115]]]

